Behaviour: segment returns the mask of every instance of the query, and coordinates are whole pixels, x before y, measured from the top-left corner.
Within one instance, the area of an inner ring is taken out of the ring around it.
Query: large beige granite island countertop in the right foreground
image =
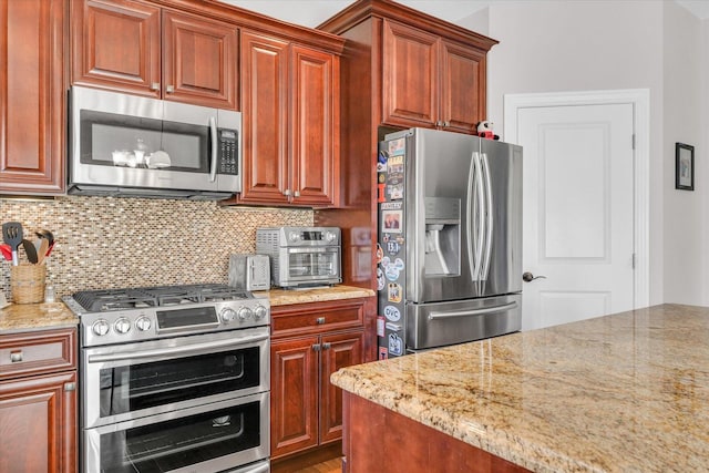
[[[331,380],[535,472],[709,471],[709,308],[661,305]]]

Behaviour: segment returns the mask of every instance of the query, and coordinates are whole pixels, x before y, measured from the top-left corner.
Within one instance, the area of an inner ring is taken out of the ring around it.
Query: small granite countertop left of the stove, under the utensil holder
[[[64,302],[12,304],[0,309],[0,335],[48,330],[79,325],[79,317]]]

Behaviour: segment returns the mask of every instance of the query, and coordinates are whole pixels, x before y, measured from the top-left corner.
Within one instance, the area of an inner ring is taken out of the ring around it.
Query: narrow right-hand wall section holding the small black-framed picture
[[[703,24],[664,2],[665,302],[708,304],[705,209],[709,184],[702,140],[706,70]],[[675,188],[675,143],[695,146],[695,192]]]

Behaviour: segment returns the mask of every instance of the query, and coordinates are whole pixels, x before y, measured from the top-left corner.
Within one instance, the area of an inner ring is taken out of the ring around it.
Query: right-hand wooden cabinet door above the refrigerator
[[[441,121],[444,130],[473,133],[485,120],[485,53],[441,42]]]

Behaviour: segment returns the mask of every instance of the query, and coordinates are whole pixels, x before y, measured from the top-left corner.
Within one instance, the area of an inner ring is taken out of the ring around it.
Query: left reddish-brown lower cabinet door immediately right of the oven
[[[319,337],[270,346],[270,456],[318,444]]]

